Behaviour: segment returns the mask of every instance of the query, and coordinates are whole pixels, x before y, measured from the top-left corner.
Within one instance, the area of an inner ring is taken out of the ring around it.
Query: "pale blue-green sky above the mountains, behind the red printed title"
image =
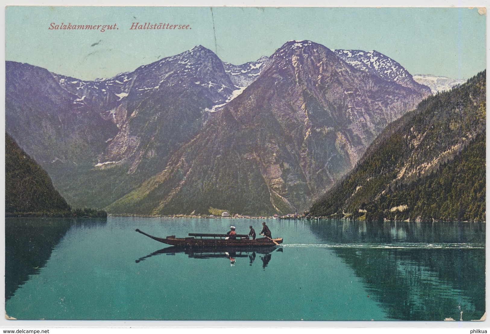
[[[118,30],[49,30],[50,23]],[[188,30],[130,30],[134,22]],[[214,23],[214,29],[213,29]],[[486,16],[476,8],[7,7],[5,58],[81,79],[112,77],[203,45],[227,62],[271,55],[289,40],[376,50],[411,74],[468,78],[486,67]]]

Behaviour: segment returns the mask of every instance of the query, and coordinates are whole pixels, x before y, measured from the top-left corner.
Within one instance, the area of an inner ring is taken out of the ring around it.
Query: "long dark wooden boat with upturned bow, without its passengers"
[[[189,233],[189,237],[176,238],[175,235],[169,235],[165,238],[149,235],[139,229],[137,232],[152,238],[153,240],[163,242],[164,244],[180,247],[265,247],[276,246],[282,243],[282,238],[257,238],[249,239],[246,234],[237,234],[236,239],[226,239],[227,234],[214,233]]]

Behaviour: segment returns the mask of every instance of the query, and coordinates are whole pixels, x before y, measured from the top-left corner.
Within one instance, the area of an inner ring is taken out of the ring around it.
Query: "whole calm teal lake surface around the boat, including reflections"
[[[280,247],[231,254],[175,251],[135,232],[224,233],[232,224],[246,234],[261,222],[6,219],[6,312],[127,320],[473,320],[485,312],[481,223],[269,219]]]

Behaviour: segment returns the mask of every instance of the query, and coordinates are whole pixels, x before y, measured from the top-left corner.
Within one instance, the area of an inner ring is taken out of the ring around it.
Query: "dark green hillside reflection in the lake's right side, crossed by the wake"
[[[392,319],[485,313],[485,223],[320,221],[310,228]]]

